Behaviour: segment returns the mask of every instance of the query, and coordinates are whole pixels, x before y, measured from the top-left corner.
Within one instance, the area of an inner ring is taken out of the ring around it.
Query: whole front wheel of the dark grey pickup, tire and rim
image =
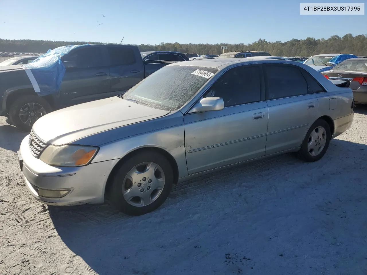
[[[15,126],[29,132],[37,119],[51,111],[52,108],[45,99],[37,95],[24,95],[10,105],[8,113]]]

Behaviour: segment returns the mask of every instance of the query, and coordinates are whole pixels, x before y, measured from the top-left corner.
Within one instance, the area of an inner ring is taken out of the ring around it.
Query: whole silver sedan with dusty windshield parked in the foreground
[[[352,90],[336,83],[289,60],[170,64],[124,95],[41,117],[19,164],[41,202],[145,214],[214,169],[286,152],[319,160],[353,120]]]

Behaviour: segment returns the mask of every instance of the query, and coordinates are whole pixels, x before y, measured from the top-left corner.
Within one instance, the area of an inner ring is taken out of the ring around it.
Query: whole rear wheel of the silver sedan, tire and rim
[[[323,120],[316,120],[308,130],[298,157],[304,161],[318,161],[324,156],[331,139],[330,126]]]

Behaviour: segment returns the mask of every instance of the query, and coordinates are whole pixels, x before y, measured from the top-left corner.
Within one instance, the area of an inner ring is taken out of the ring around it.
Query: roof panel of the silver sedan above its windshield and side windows
[[[255,58],[256,57],[256,58]],[[213,58],[213,59],[195,59],[190,61],[182,61],[177,63],[172,63],[167,66],[197,66],[197,67],[207,67],[207,68],[215,68],[219,69],[220,67],[228,67],[233,64],[246,64],[247,62],[251,63],[287,63],[287,64],[301,64],[291,60],[283,60],[283,59],[273,59],[273,58],[264,58],[265,56],[254,56],[247,58]]]

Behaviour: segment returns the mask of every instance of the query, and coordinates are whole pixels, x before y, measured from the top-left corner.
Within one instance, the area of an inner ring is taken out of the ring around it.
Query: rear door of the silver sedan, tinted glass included
[[[302,68],[290,64],[264,65],[269,107],[266,155],[301,146],[316,120],[318,103],[309,91]]]

